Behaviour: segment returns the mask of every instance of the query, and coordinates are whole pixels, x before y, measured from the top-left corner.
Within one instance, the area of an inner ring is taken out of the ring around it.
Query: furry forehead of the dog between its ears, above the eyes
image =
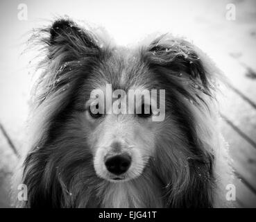
[[[104,88],[107,84],[112,89],[150,89],[151,72],[137,53],[117,51],[101,62],[93,79],[93,88]],[[98,76],[98,78],[97,78]]]

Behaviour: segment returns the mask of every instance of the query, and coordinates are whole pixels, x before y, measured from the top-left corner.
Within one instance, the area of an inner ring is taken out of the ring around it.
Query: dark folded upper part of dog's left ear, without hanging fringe
[[[49,58],[62,55],[67,61],[92,56],[99,51],[96,37],[69,19],[58,19],[49,29]]]

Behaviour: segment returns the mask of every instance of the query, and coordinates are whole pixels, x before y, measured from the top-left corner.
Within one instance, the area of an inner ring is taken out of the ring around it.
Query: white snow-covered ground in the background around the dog
[[[256,1],[97,0],[66,3],[24,0],[28,7],[26,21],[17,18],[19,3],[18,0],[0,1],[0,123],[17,148],[24,144],[22,133],[31,87],[28,61],[33,57],[33,53],[21,56],[24,50],[22,43],[26,42],[26,32],[48,24],[49,19],[56,15],[69,15],[76,20],[104,26],[117,44],[123,45],[138,42],[149,33],[171,32],[185,36],[213,58],[228,76],[230,84],[256,103],[256,76],[253,73],[256,70]],[[226,18],[228,3],[235,6],[235,20]],[[255,141],[255,110],[236,93],[227,90],[224,94],[226,99],[221,105],[222,112]],[[230,144],[244,147],[243,140],[235,141],[235,132],[229,126],[224,124],[223,130]],[[256,186],[255,178],[251,176],[255,171],[255,150],[250,147],[233,149],[234,159],[238,162],[241,152],[251,155],[250,164],[243,159],[238,168],[240,174]],[[0,132],[0,207],[8,206],[4,182],[15,162],[16,157]]]

